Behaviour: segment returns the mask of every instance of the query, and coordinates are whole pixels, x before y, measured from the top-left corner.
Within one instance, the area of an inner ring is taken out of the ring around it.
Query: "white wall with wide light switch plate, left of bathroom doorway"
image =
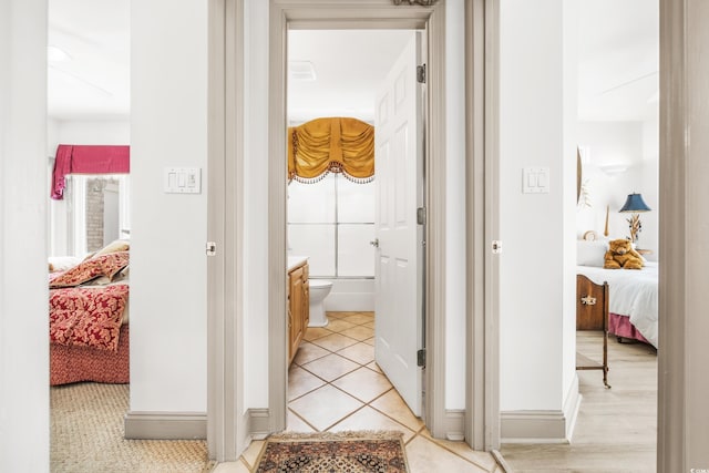
[[[206,412],[207,2],[131,3],[131,411]]]

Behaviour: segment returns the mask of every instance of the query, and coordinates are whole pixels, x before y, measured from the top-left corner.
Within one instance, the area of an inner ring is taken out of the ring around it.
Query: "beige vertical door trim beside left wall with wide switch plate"
[[[248,444],[244,356],[244,0],[209,0],[207,448],[236,461]]]

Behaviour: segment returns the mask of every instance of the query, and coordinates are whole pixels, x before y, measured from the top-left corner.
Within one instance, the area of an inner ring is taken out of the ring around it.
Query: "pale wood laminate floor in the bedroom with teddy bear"
[[[578,351],[600,361],[600,332],[577,332]],[[504,444],[507,465],[523,472],[655,472],[657,352],[645,343],[608,339],[608,382],[602,371],[577,371],[583,395],[569,444]]]

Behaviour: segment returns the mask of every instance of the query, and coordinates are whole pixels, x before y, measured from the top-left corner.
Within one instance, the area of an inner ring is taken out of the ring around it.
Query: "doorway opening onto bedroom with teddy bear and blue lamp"
[[[618,409],[617,424],[631,429],[629,432],[614,430],[599,439],[612,441],[618,435],[628,448],[633,445],[637,451],[648,452],[645,460],[654,463],[657,433],[655,429],[641,426],[656,425],[658,421],[658,347],[659,340],[666,337],[659,333],[662,327],[659,300],[669,297],[659,294],[658,280],[661,270],[659,214],[666,208],[660,208],[659,187],[660,7],[658,1],[627,7],[614,8],[614,20],[603,20],[604,27],[598,28],[599,19],[607,17],[607,7],[583,2],[578,28],[573,33],[578,40],[580,72],[576,124],[580,192],[576,207],[575,269],[576,274],[596,284],[606,281],[610,287],[607,359],[608,382],[613,389],[594,393],[597,378],[590,376],[593,371],[579,371],[578,377],[584,395],[582,413],[586,403],[589,410],[594,409],[594,402],[600,407],[607,403],[607,414],[613,415],[612,410]],[[626,34],[628,22],[635,24],[631,34]],[[624,60],[616,62],[612,55]],[[635,245],[643,254],[644,267],[640,270],[604,269],[608,241],[631,239],[629,224],[634,214],[623,209],[636,193],[650,208],[635,214],[643,223],[643,230],[635,235]],[[588,327],[584,320],[577,320],[576,327],[578,352],[602,360],[602,338],[593,343],[588,340],[594,333],[603,333],[603,326]],[[593,331],[598,328],[599,331]],[[628,359],[633,362],[627,362]],[[620,377],[620,372],[628,376]],[[645,382],[636,382],[628,392],[623,385],[628,379]],[[623,395],[616,397],[614,392]],[[583,418],[579,415],[579,419]],[[587,425],[583,420],[576,428],[583,432]],[[644,466],[638,463],[637,467]]]

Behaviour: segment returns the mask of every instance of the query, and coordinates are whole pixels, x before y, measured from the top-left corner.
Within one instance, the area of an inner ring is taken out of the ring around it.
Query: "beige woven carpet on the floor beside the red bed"
[[[51,388],[51,471],[212,471],[205,441],[125,440],[127,384],[76,383]]]

